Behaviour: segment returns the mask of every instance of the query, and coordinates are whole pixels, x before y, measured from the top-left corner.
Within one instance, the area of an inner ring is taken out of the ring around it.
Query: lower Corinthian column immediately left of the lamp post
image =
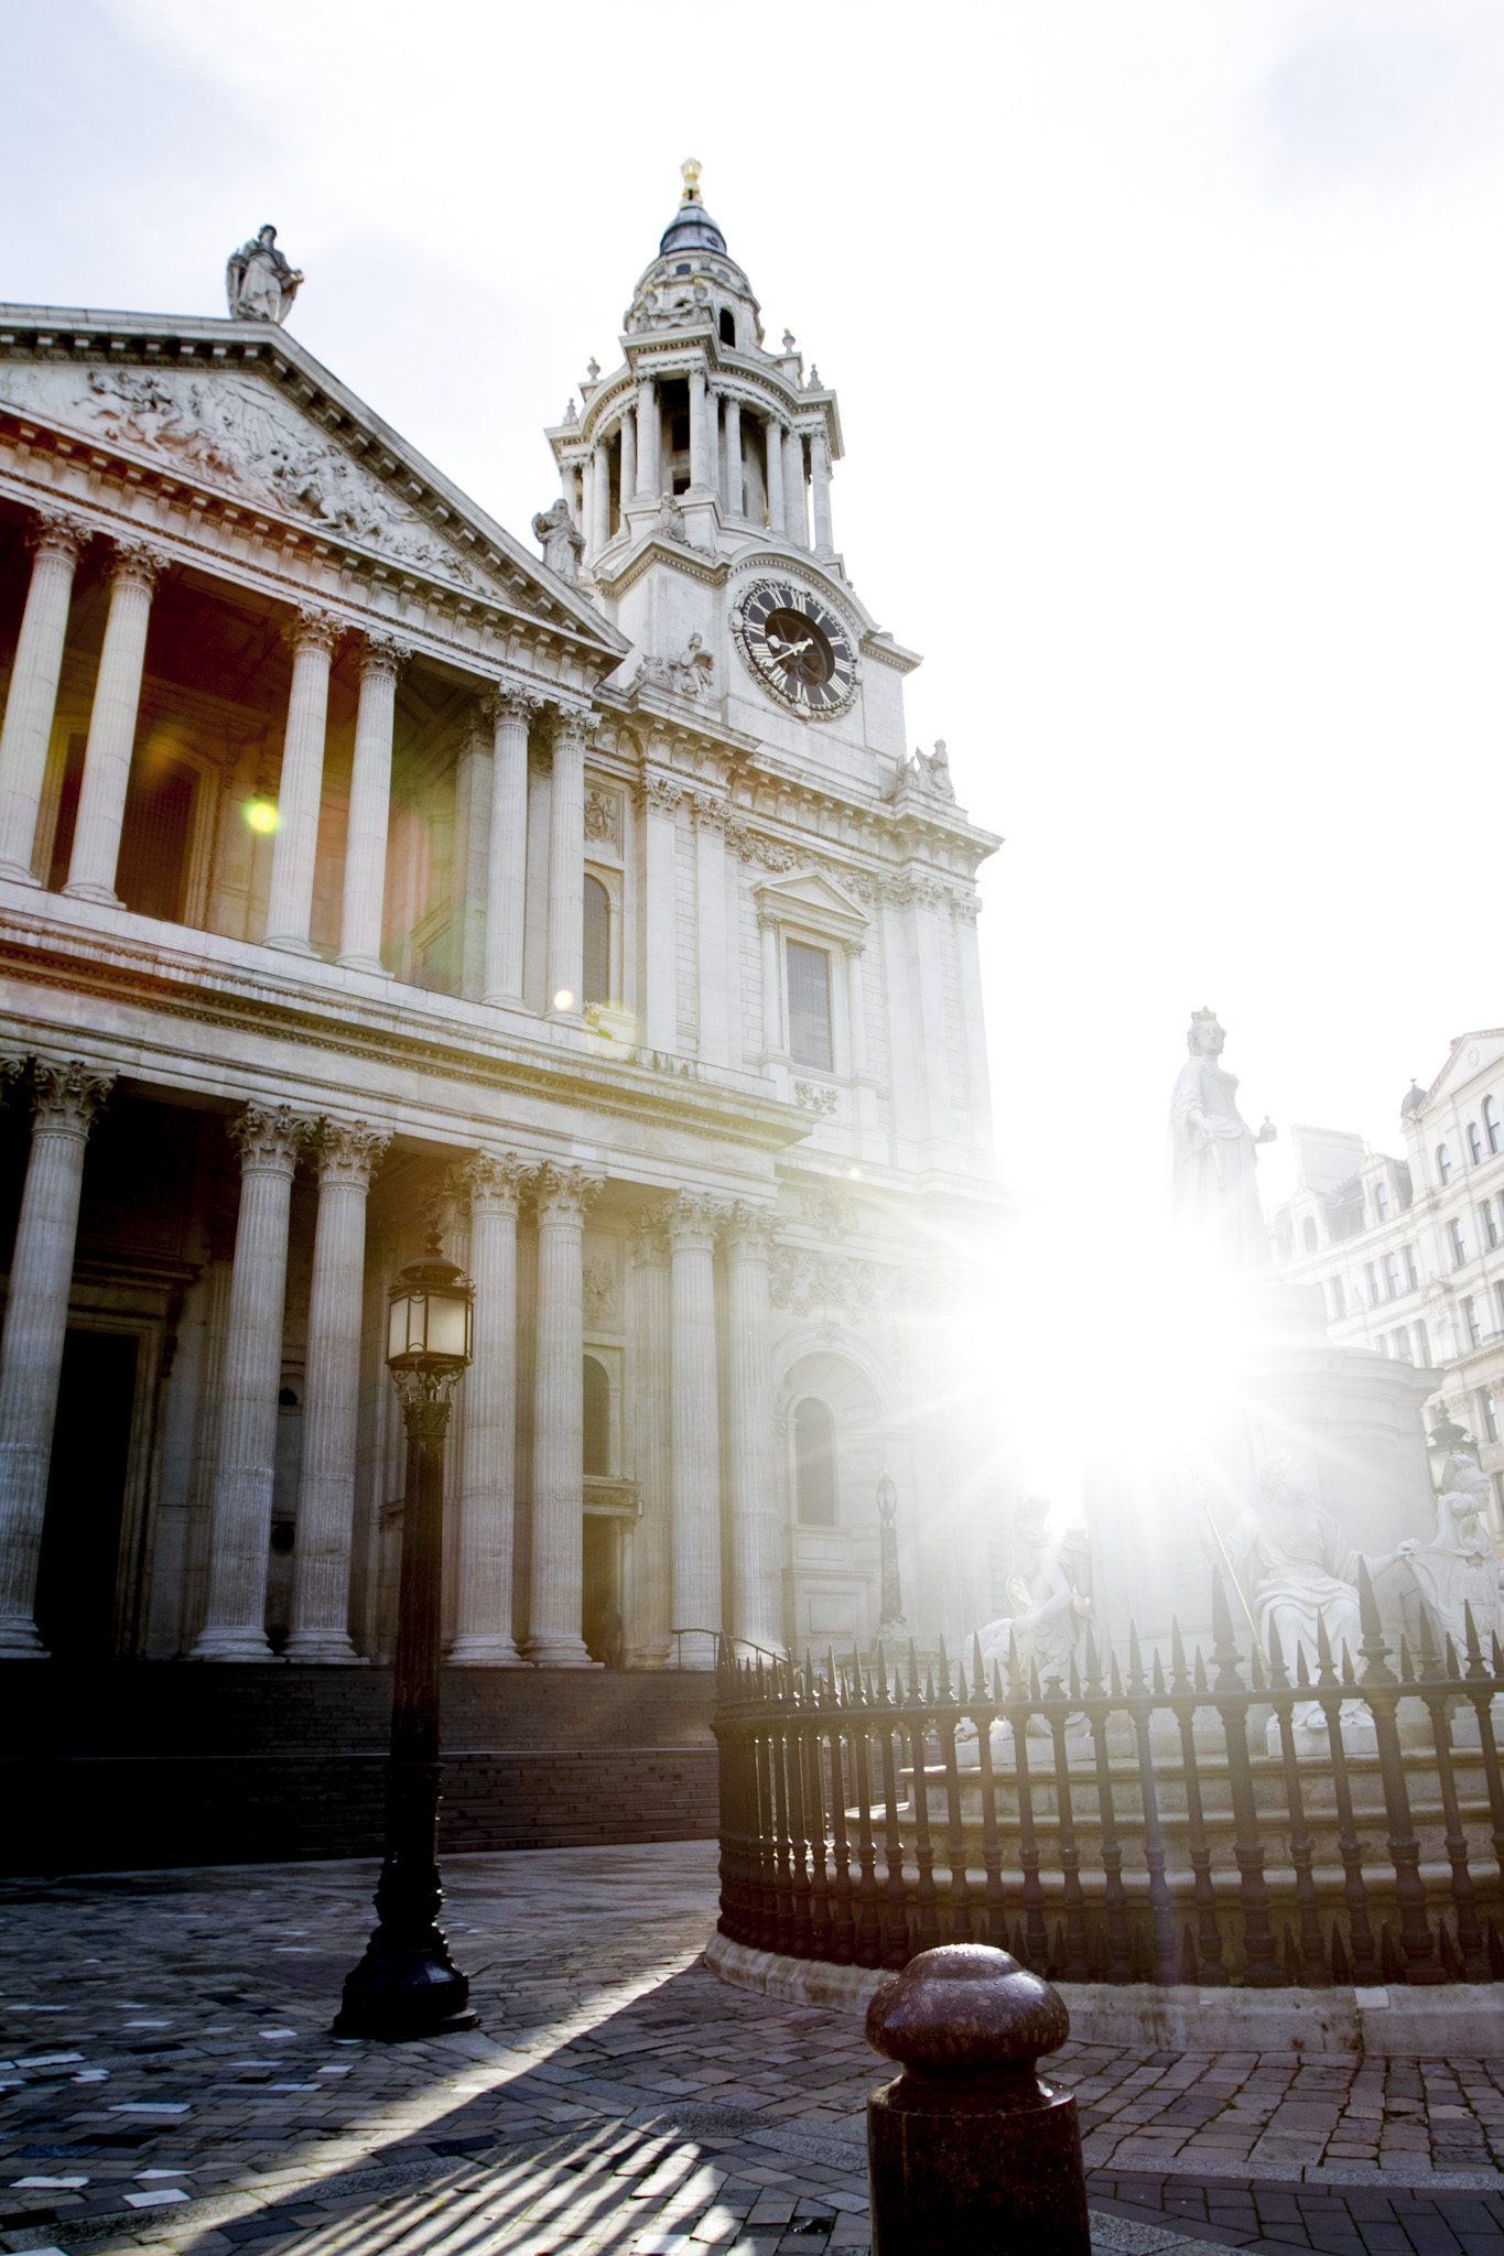
[[[350,1541],[365,1299],[365,1193],[390,1137],[365,1121],[325,1121],[302,1392],[302,1473],[293,1545],[289,1660],[361,1656],[350,1642]]]

